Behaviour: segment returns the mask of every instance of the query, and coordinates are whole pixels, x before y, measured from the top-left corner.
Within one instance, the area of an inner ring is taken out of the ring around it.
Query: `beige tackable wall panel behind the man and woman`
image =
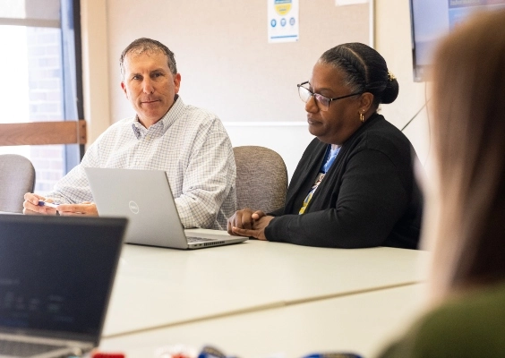
[[[300,0],[300,40],[267,42],[265,0],[108,0],[111,118],[133,115],[120,90],[117,59],[135,38],[155,38],[175,52],[188,104],[224,122],[305,121],[296,83],[317,58],[344,42],[368,43],[368,4]]]

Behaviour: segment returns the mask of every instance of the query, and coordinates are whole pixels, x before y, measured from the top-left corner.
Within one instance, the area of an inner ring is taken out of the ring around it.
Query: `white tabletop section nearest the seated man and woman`
[[[256,240],[194,251],[125,245],[102,337],[411,285],[428,260],[425,251]]]

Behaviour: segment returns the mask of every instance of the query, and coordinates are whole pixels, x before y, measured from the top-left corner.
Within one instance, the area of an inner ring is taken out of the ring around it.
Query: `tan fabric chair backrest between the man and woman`
[[[271,212],[284,207],[287,169],[272,149],[258,146],[235,147],[236,209]]]

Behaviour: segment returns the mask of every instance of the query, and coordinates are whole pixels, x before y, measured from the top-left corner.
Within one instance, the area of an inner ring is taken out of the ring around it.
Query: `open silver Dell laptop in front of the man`
[[[174,249],[242,243],[221,230],[184,233],[167,173],[162,170],[84,168],[100,217],[128,217],[125,242]],[[190,234],[191,233],[191,234]]]

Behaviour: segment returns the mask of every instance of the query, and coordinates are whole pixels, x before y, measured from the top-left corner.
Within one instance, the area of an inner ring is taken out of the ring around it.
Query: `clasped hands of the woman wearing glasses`
[[[268,217],[263,211],[252,209],[242,209],[228,218],[228,234],[255,237],[260,240],[267,240],[265,227],[274,217]]]

